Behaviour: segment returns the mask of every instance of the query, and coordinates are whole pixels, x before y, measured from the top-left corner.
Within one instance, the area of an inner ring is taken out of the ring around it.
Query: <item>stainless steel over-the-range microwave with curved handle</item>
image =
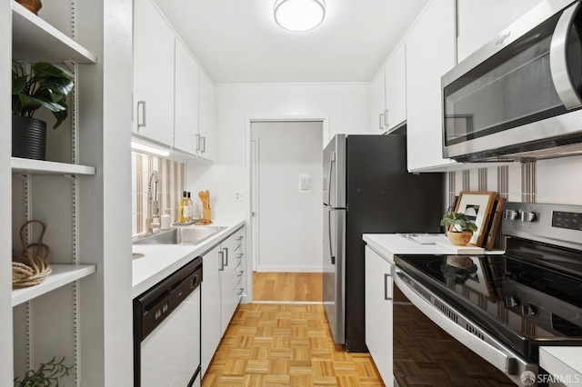
[[[443,75],[443,155],[582,154],[580,1],[545,0]]]

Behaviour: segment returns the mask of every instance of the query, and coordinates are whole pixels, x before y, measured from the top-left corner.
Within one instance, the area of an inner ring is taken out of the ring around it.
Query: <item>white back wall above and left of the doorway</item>
[[[248,214],[234,196],[248,196],[249,120],[292,117],[324,118],[324,145],[334,134],[368,134],[368,84],[216,85],[215,164],[188,164],[186,175],[188,191],[210,191],[215,223]]]

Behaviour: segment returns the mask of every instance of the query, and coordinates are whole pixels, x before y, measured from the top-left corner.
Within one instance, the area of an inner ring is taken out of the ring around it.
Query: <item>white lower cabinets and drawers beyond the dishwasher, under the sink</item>
[[[203,256],[202,376],[246,291],[244,240],[243,226]],[[241,278],[242,283],[239,282]]]

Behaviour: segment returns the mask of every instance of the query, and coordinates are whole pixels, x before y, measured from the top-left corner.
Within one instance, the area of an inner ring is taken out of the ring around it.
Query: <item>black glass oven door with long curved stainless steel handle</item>
[[[525,385],[537,385],[537,364],[527,362],[468,322],[401,268],[395,266],[393,278],[396,386],[415,381],[515,386],[524,385],[522,378],[528,376],[534,380]]]

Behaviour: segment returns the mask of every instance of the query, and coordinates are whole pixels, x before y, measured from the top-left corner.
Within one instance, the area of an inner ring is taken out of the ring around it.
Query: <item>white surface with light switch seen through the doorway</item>
[[[320,273],[323,122],[253,122],[257,272]]]

